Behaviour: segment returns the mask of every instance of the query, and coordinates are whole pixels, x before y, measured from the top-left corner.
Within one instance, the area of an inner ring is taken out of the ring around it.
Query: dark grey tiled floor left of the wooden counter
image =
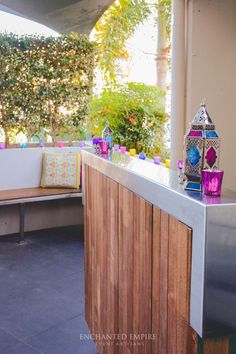
[[[0,354],[96,354],[84,320],[83,230],[0,238]]]

